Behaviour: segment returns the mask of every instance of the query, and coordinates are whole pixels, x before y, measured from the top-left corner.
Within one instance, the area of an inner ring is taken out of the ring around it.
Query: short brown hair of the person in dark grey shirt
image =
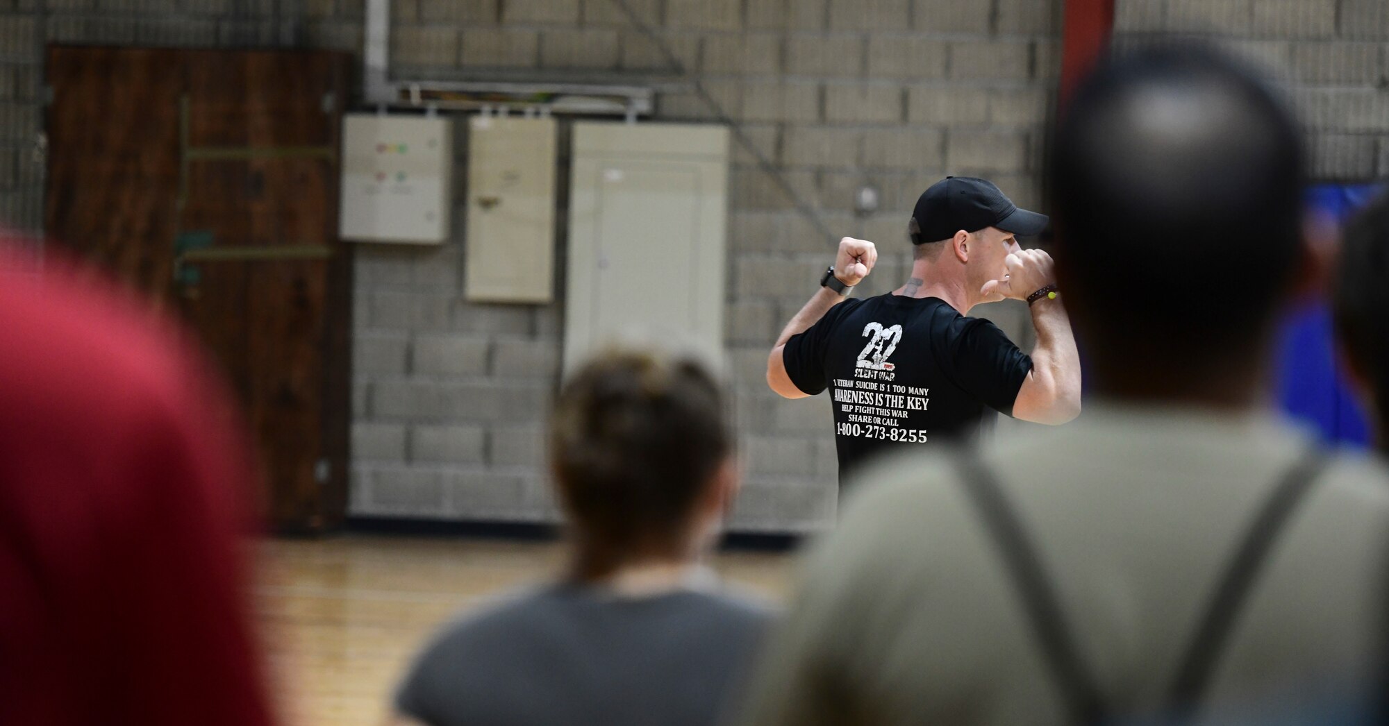
[[[581,548],[596,559],[588,573],[613,569],[622,554],[681,546],[732,447],[720,386],[694,361],[619,350],[575,373],[550,418],[550,466]]]

